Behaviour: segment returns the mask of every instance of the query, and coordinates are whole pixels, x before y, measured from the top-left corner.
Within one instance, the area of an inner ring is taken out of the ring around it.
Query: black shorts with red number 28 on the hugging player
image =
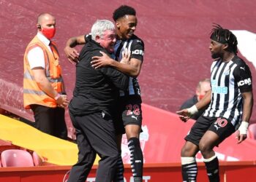
[[[142,111],[140,98],[136,96],[119,98],[117,110],[115,125],[118,134],[124,133],[124,127],[128,124],[136,124],[141,127]]]

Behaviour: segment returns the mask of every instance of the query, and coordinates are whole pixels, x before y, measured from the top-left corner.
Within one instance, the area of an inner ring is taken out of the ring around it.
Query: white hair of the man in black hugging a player
[[[91,39],[103,36],[106,30],[115,31],[115,25],[110,20],[97,20],[91,27]]]

